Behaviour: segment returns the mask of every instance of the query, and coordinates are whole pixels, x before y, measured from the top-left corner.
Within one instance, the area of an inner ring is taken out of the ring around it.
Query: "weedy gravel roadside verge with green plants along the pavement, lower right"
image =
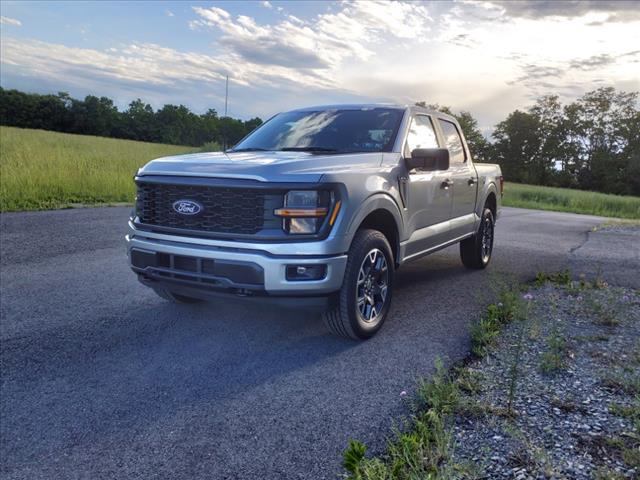
[[[351,440],[348,479],[638,478],[640,292],[568,271],[497,284],[470,357],[403,397],[384,454]]]

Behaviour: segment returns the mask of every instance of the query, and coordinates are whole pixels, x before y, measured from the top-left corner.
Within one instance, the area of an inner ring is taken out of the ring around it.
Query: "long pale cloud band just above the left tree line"
[[[206,91],[217,88],[229,75],[235,85],[271,88],[312,86],[329,88],[331,83],[314,72],[281,67],[245,65],[232,57],[181,52],[150,43],[132,43],[104,51],[67,47],[36,40],[6,37],[2,41],[2,78],[6,74],[57,81],[61,86],[82,86],[87,79],[104,86],[113,82],[127,88],[179,89],[198,85]],[[197,94],[196,94],[197,96]]]

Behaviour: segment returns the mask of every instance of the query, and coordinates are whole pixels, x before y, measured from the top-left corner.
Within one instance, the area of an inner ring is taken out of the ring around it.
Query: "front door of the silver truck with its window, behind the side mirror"
[[[405,145],[405,156],[416,148],[438,148],[438,139],[429,115],[417,114],[411,120]],[[442,243],[449,226],[453,195],[443,182],[448,172],[426,172],[414,169],[408,172],[407,208],[412,235],[407,244],[407,255],[421,252]],[[440,224],[438,226],[438,224]],[[436,227],[434,227],[436,226]],[[433,228],[429,228],[433,227]]]

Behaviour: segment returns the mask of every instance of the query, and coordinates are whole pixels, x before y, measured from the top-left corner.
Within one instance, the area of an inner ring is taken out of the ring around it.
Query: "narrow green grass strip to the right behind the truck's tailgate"
[[[502,201],[507,207],[640,219],[640,197],[507,182]]]

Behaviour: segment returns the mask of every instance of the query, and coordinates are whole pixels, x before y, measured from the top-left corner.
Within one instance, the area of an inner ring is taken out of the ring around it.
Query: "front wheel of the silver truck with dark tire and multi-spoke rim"
[[[385,236],[377,230],[356,233],[336,305],[323,314],[329,330],[354,340],[380,330],[391,305],[394,261]]]

